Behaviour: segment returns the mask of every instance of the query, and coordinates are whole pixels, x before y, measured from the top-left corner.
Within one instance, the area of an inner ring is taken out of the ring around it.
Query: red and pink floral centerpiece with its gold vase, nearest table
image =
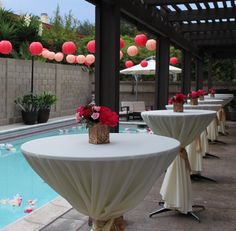
[[[105,106],[95,104],[81,105],[76,110],[76,121],[86,124],[89,132],[89,143],[109,143],[109,127],[115,127],[119,118],[116,112]]]

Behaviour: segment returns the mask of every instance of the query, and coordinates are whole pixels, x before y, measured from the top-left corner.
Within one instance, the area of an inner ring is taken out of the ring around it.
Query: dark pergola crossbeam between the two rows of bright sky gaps
[[[235,9],[233,8],[218,8],[209,10],[191,10],[182,11],[181,13],[171,12],[168,14],[169,21],[195,21],[195,20],[210,20],[210,19],[227,19],[235,17]]]

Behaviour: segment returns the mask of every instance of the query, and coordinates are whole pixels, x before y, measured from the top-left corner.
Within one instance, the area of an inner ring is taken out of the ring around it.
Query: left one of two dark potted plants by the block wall
[[[32,94],[18,97],[15,103],[21,108],[22,120],[25,124],[35,124],[38,116],[38,97]]]

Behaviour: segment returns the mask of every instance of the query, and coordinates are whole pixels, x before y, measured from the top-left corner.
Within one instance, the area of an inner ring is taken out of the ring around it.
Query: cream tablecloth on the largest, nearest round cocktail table
[[[71,205],[109,221],[134,208],[173,161],[179,142],[149,134],[110,134],[109,144],[88,135],[37,139],[21,149],[33,169]]]

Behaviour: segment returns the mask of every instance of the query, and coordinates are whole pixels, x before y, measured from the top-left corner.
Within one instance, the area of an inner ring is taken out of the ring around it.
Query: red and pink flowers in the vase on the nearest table
[[[108,107],[89,104],[86,106],[81,105],[77,108],[76,121],[78,123],[85,123],[87,128],[96,124],[115,127],[118,124],[119,118],[117,113]]]

